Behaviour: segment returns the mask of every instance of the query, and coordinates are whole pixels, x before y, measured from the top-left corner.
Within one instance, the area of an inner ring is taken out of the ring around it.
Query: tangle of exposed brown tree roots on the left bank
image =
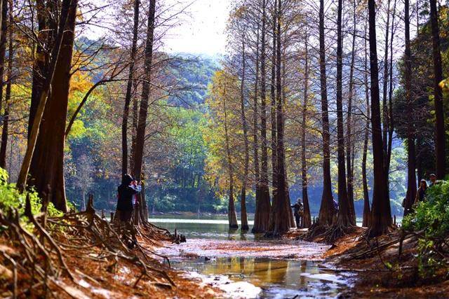
[[[25,216],[34,228],[23,226],[18,211],[11,211],[6,216],[0,210],[0,237],[8,239],[8,245],[0,248],[0,266],[11,273],[4,288],[10,291],[2,295],[17,298],[33,294],[46,298],[48,295],[54,296],[54,292],[63,291],[70,297],[76,297],[73,292],[79,290],[70,286],[69,281],[77,285],[80,279],[85,279],[100,285],[100,281],[80,270],[79,265],[73,262],[74,257],[80,261],[83,258],[83,263],[91,260],[112,273],[116,272],[119,264],[128,264],[133,271],[140,272],[132,284],[133,288],[139,288],[144,277],[145,285],[153,281],[153,286],[163,289],[177,286],[166,268],[154,258],[163,258],[168,266],[170,260],[140,246],[138,239],[157,244],[161,241],[179,242],[182,235],[176,238],[168,230],[147,221],[140,223],[138,229],[134,225],[117,227],[95,213],[93,197],[89,197],[86,211],[58,218],[46,218],[43,214],[41,222],[32,214],[27,200]],[[71,258],[71,263],[67,263],[67,258]],[[65,277],[69,281],[63,281]]]

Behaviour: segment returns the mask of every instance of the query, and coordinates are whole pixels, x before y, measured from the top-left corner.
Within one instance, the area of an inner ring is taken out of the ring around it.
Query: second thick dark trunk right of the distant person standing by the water
[[[351,210],[346,184],[346,167],[344,163],[344,129],[342,101],[342,71],[343,71],[343,41],[342,41],[342,0],[338,0],[337,9],[337,160],[338,160],[338,225],[351,224]]]

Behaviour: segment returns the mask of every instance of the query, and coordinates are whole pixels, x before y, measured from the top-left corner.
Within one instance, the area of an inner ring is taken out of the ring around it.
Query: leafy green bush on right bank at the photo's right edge
[[[418,269],[422,277],[432,277],[441,271],[449,274],[445,243],[449,239],[449,181],[441,181],[427,189],[426,200],[403,219],[402,228],[418,232]],[[446,258],[443,258],[445,256]]]

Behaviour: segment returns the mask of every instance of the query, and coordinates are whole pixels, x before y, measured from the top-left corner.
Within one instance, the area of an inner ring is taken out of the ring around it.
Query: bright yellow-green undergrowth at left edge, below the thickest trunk
[[[22,223],[27,224],[29,221],[24,215],[27,196],[29,196],[31,202],[32,213],[34,215],[41,213],[42,204],[39,195],[34,190],[20,193],[15,187],[15,183],[8,183],[8,173],[6,170],[0,168],[0,210],[4,214],[17,210]],[[62,212],[58,211],[51,202],[48,204],[47,213],[49,217],[62,216]]]

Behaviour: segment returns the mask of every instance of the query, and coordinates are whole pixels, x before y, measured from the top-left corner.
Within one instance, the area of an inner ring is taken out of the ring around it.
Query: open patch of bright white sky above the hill
[[[182,0],[186,6],[194,0]],[[167,52],[224,54],[225,27],[232,0],[196,0],[187,8],[188,16],[164,40]]]

